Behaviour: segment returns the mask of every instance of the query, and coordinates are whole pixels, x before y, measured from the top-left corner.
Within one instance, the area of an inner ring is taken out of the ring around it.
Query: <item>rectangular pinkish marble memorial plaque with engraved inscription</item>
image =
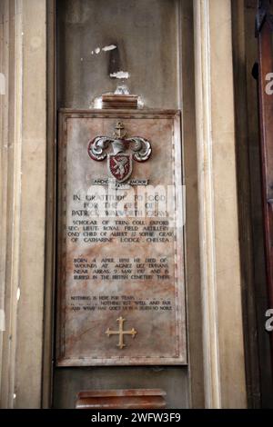
[[[58,366],[187,363],[180,114],[62,110]]]

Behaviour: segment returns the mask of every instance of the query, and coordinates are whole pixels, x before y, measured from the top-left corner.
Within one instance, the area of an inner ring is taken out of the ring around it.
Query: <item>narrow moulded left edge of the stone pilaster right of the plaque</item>
[[[201,293],[203,306],[203,352],[206,407],[219,408],[221,402],[217,341],[217,295],[214,223],[214,186],[212,180],[212,130],[209,4],[195,1],[195,61],[197,158]]]

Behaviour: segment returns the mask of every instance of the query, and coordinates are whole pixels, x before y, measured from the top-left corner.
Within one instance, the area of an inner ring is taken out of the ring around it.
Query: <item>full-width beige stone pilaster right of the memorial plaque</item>
[[[205,405],[246,407],[230,0],[194,0]]]

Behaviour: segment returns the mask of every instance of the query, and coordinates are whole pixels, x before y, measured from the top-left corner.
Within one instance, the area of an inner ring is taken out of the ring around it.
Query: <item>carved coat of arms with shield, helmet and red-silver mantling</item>
[[[106,150],[110,144],[112,144],[113,153],[107,154]],[[121,122],[118,122],[114,137],[96,136],[88,144],[88,154],[91,159],[98,162],[102,162],[107,157],[108,173],[121,184],[131,176],[133,161],[146,162],[152,154],[152,148],[149,141],[140,136],[126,138],[125,127]]]

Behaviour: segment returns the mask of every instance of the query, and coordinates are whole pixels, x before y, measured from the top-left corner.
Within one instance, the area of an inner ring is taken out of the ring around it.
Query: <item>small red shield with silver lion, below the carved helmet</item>
[[[108,171],[118,183],[124,183],[132,174],[132,170],[131,154],[108,154]]]

